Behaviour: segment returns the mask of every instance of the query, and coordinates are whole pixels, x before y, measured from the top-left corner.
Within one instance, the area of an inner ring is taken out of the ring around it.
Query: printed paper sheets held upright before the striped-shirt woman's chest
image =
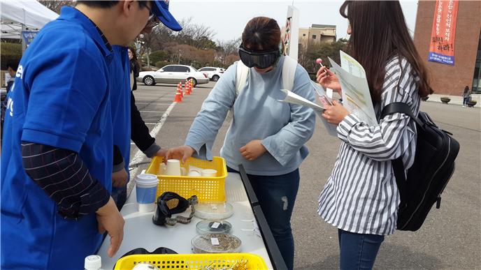
[[[364,68],[345,52],[340,51],[340,56],[343,67],[331,58],[329,62],[343,91],[343,106],[369,126],[378,126]]]

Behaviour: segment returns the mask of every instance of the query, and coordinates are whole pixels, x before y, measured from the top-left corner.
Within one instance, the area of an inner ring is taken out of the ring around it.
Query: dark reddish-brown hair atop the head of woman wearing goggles
[[[280,44],[278,22],[269,17],[254,17],[247,22],[242,33],[242,43],[251,50],[274,50]]]

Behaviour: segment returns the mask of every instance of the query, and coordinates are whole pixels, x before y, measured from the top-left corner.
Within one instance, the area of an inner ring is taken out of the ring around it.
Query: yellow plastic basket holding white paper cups
[[[227,167],[224,158],[215,156],[212,161],[201,160],[199,158],[187,158],[185,163],[181,164],[186,170],[188,170],[189,165],[202,169],[216,170],[216,177],[175,177],[159,175],[159,165],[162,162],[164,162],[164,158],[155,157],[145,171],[148,174],[156,174],[159,179],[157,197],[166,191],[172,191],[185,198],[196,195],[199,202],[225,202]]]

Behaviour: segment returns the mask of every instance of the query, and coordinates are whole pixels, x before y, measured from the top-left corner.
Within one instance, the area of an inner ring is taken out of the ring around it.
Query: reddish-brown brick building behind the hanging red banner
[[[445,1],[447,2],[447,1]],[[459,1],[454,65],[427,61],[436,1],[419,1],[414,42],[430,70],[435,93],[459,96],[466,85],[481,93],[481,1]]]

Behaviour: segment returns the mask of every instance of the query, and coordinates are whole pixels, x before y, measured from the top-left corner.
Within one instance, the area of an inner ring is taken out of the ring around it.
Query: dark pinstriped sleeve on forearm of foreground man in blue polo
[[[57,203],[64,218],[78,220],[110,200],[106,188],[74,151],[22,142],[22,163],[27,175]]]

